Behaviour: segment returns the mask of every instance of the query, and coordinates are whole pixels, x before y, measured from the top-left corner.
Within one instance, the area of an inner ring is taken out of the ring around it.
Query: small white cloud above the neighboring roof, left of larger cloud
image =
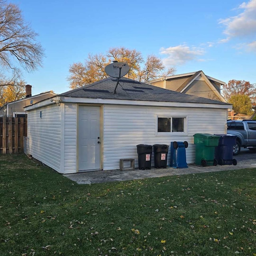
[[[184,65],[186,62],[191,60],[198,60],[198,56],[204,54],[204,50],[202,48],[178,45],[169,48],[161,48],[161,54],[167,55],[166,58],[163,59],[163,63],[166,66],[177,66]],[[200,60],[202,61],[202,60]]]

